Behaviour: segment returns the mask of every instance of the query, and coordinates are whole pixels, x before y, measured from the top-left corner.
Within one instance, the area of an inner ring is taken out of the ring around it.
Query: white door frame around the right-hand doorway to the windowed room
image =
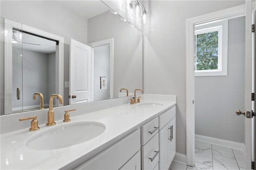
[[[205,24],[207,22],[216,22],[221,20],[230,20],[232,18],[238,18],[241,16],[246,16],[246,46],[245,46],[245,97],[244,97],[244,107],[242,108],[246,111],[242,112],[246,115],[247,118],[240,117],[244,121],[244,132],[245,132],[245,152],[246,152],[246,169],[250,169],[252,164],[252,123],[251,123],[251,109],[252,109],[252,102],[251,102],[251,93],[252,93],[252,6],[255,8],[256,4],[251,3],[251,1],[246,1],[246,4],[241,6],[236,6],[233,8],[228,8],[225,10],[221,10],[218,12],[213,12],[210,14],[206,14],[203,16],[198,16],[195,18],[190,18],[187,20],[187,164],[189,166],[195,165],[195,105],[197,101],[195,100],[196,92],[195,92],[195,62],[194,62],[194,54],[195,54],[195,26],[197,24]],[[246,10],[244,10],[246,9]],[[218,18],[218,19],[216,19]],[[237,81],[236,81],[237,82]],[[239,83],[238,83],[239,84]],[[237,85],[237,83],[234,83]],[[214,87],[212,87],[214,88]],[[232,88],[232,87],[230,87]],[[235,92],[233,92],[235,93]],[[212,103],[212,105],[214,105]],[[239,109],[239,108],[236,108]],[[241,110],[242,110],[241,109]],[[233,111],[234,114],[236,110]],[[204,111],[207,113],[207,111]],[[236,112],[237,114],[239,112]],[[231,113],[230,113],[231,114]],[[238,114],[239,115],[239,114]],[[206,114],[205,114],[206,116]],[[249,119],[248,119],[249,118]],[[219,119],[219,121],[221,121]],[[227,125],[228,126],[228,125]],[[243,128],[238,126],[237,128]],[[220,131],[218,131],[221,133]]]

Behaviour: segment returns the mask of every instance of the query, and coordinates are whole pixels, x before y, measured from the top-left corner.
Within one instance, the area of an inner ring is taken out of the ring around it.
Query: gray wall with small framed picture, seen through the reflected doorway
[[[106,77],[107,88],[100,89],[100,77]],[[110,97],[110,45],[94,48],[94,101]]]

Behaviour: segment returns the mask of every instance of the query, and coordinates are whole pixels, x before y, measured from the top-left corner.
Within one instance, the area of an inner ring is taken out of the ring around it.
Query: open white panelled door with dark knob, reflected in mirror
[[[92,48],[71,39],[70,105],[91,101]]]

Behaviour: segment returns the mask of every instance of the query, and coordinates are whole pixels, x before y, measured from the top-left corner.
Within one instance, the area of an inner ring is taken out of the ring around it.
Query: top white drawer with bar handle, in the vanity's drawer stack
[[[158,132],[158,118],[154,118],[141,127],[141,144],[144,145]]]

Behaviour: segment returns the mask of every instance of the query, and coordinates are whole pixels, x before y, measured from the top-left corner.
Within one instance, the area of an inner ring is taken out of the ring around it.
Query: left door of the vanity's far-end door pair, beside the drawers
[[[168,170],[168,138],[170,138],[170,130],[168,124],[159,131],[159,169]]]

